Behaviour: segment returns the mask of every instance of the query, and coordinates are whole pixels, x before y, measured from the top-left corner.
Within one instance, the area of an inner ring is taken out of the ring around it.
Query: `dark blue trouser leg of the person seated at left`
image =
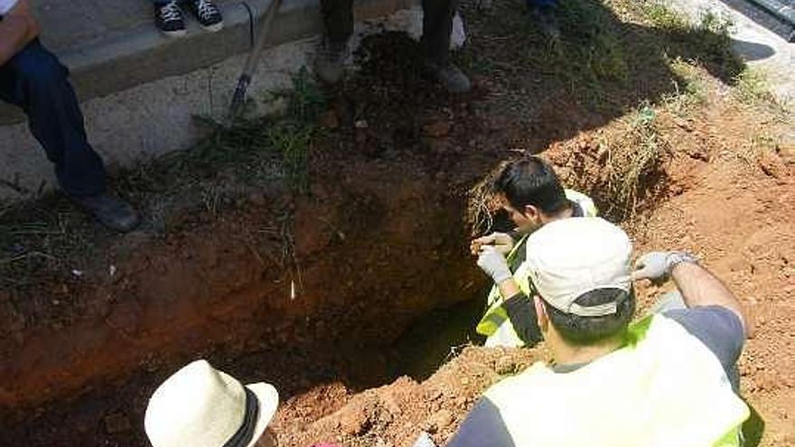
[[[0,98],[22,107],[31,133],[55,164],[61,189],[86,197],[106,189],[102,159],[91,148],[69,70],[36,40],[0,66]]]

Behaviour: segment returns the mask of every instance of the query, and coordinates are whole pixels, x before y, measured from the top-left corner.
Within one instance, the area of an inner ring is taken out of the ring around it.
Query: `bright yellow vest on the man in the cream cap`
[[[737,447],[750,412],[716,356],[662,315],[567,373],[537,363],[484,396],[516,447]]]

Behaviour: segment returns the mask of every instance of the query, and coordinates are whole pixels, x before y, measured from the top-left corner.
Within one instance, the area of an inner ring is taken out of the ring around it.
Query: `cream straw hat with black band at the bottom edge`
[[[243,386],[196,360],[157,387],[144,427],[153,447],[275,447],[267,424],[278,404],[274,386]]]

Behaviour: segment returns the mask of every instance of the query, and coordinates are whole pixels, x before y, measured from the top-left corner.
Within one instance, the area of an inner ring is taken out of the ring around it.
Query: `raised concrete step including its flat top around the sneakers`
[[[37,0],[33,4],[42,42],[72,71],[81,100],[97,98],[182,75],[248,51],[256,24],[272,0],[219,0],[224,28],[205,33],[188,18],[188,35],[169,38],[154,27],[149,0]],[[388,14],[408,0],[360,0],[358,19]],[[318,0],[285,0],[271,30],[269,46],[321,33]],[[14,107],[0,103],[0,125],[22,121]]]

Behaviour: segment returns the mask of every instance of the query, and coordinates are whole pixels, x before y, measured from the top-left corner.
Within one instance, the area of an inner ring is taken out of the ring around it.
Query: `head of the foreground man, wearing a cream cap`
[[[527,249],[538,325],[553,351],[623,340],[635,294],[632,245],[621,228],[599,218],[561,219],[530,235]]]

